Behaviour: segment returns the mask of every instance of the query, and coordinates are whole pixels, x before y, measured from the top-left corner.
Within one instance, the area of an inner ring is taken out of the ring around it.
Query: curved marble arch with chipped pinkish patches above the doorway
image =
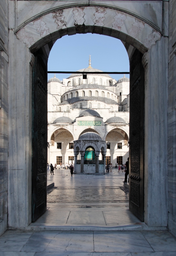
[[[47,48],[47,43],[64,35],[77,33],[116,37],[142,53],[161,38],[161,33],[144,20],[126,12],[98,6],[72,7],[47,13],[23,26],[16,36],[31,52],[35,52],[44,45]]]

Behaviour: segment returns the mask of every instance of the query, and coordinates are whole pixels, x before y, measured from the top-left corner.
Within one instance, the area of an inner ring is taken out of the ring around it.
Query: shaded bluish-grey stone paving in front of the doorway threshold
[[[168,231],[7,231],[0,256],[175,256]]]

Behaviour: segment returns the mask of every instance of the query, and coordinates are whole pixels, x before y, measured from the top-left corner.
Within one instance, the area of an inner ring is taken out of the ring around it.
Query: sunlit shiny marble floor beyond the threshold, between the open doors
[[[124,173],[115,168],[105,175],[70,175],[69,170],[48,172],[54,189],[47,196],[47,211],[36,225],[132,225],[140,220],[129,211],[129,195],[123,191]],[[128,190],[128,189],[126,189]],[[49,191],[49,192],[50,192]]]

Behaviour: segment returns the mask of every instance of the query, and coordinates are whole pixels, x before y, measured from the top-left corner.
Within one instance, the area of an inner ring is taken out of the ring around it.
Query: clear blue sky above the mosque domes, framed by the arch
[[[129,58],[122,42],[110,36],[76,34],[58,39],[50,52],[48,71],[77,71],[91,66],[102,71],[129,72]],[[48,79],[54,74],[48,74]],[[60,80],[69,74],[56,74]],[[118,80],[123,75],[111,75]],[[129,75],[126,75],[129,77]]]

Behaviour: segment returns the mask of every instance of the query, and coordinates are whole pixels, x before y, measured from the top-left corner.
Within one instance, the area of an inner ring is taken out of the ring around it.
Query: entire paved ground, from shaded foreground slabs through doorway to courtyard
[[[129,211],[124,173],[48,171],[47,211],[26,229],[0,237],[0,256],[175,256],[166,228],[149,228]]]

